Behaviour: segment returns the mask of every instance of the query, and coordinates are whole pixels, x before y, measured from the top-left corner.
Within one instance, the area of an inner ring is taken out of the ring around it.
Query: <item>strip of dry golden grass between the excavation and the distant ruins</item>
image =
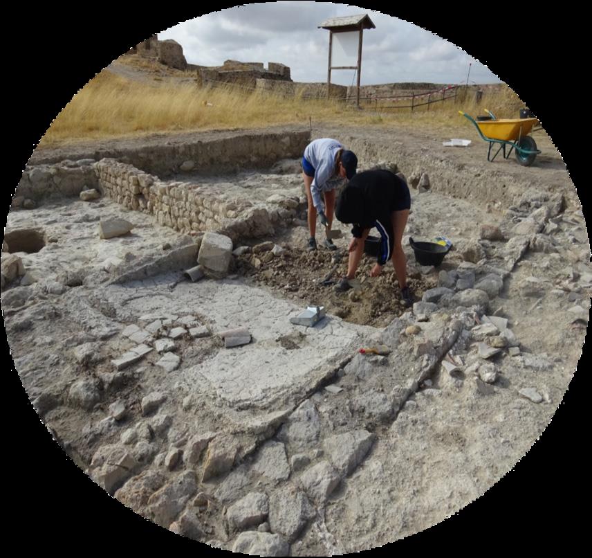
[[[501,86],[485,89],[480,105],[475,102],[474,91],[468,89],[459,92],[456,103],[439,102],[429,107],[429,111],[427,107],[411,112],[371,105],[356,109],[333,100],[286,98],[232,86],[198,87],[188,73],[185,75],[186,82],[155,81],[154,75],[149,74],[147,80],[133,81],[102,71],[64,107],[39,147],[154,132],[304,126],[310,119],[317,125],[463,129],[468,123],[459,116],[459,109],[475,116],[484,114],[483,107],[487,107],[498,118],[517,118],[518,109],[524,106],[515,93]]]

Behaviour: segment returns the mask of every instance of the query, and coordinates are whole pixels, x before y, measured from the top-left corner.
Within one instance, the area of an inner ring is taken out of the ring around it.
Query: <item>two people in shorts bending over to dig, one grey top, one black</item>
[[[331,138],[312,141],[304,150],[302,174],[308,199],[308,249],[317,249],[317,215],[329,230],[334,216],[344,224],[353,225],[347,273],[335,286],[337,291],[347,291],[351,289],[349,280],[355,277],[362,259],[364,242],[371,228],[376,227],[380,233],[380,247],[378,262],[370,276],[378,277],[385,264],[392,260],[400,296],[406,306],[411,306],[413,294],[407,285],[407,258],[401,244],[411,208],[409,187],[405,180],[389,170],[357,173],[357,168],[355,154]],[[344,179],[348,182],[335,203],[335,189]],[[337,249],[329,236],[323,244],[330,250]]]

